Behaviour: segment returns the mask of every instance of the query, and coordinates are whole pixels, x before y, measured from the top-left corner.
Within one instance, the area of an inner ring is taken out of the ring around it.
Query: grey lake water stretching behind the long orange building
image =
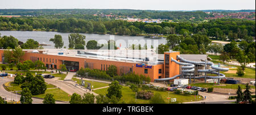
[[[39,44],[49,44],[50,46],[43,46],[44,48],[54,48],[53,42],[50,42],[49,39],[54,38],[55,35],[61,35],[64,41],[64,46],[68,48],[68,35],[70,33],[61,33],[61,32],[43,32],[43,31],[0,31],[1,36],[14,36],[16,39],[22,42],[26,42],[27,39],[34,39],[38,41]],[[127,48],[132,44],[141,44],[144,46],[147,43],[147,48],[150,48],[151,45],[158,46],[159,44],[166,44],[165,38],[153,39],[146,38],[144,36],[117,36],[117,35],[99,35],[99,34],[89,34],[89,33],[80,33],[85,35],[85,42],[89,40],[96,40],[100,44],[106,44],[108,40],[115,40],[118,47]]]

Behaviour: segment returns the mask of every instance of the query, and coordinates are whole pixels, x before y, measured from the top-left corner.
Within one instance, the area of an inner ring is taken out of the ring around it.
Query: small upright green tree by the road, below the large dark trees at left
[[[22,88],[22,92],[20,93],[20,103],[22,104],[32,104],[32,94],[30,89],[26,88]]]

